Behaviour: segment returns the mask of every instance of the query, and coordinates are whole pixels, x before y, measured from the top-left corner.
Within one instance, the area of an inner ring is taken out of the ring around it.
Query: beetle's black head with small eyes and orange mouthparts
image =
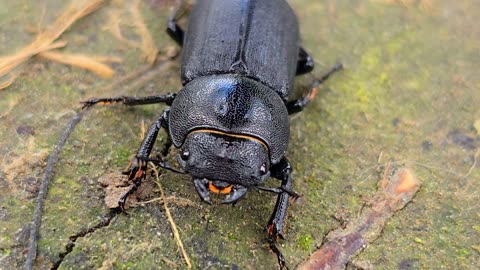
[[[192,175],[201,199],[211,203],[209,193],[226,194],[223,203],[235,203],[248,188],[270,176],[267,146],[246,135],[200,129],[188,134],[178,157]]]

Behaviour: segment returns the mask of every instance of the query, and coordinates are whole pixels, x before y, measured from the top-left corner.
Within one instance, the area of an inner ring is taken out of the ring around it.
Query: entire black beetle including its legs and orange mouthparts
[[[281,268],[287,268],[275,246],[283,239],[292,167],[285,157],[290,136],[289,114],[301,111],[314,97],[316,86],[342,68],[334,66],[315,81],[303,97],[289,101],[295,75],[311,72],[312,57],[300,47],[298,22],[284,0],[199,0],[193,7],[187,31],[169,18],[167,33],[181,47],[181,80],[178,94],[149,97],[90,99],[97,103],[171,106],[149,128],[125,174],[134,185],[125,200],[146,176],[147,162],[174,172],[188,173],[200,198],[212,204],[209,193],[225,194],[222,203],[234,204],[248,189],[278,194],[266,226],[270,248]],[[183,171],[161,159],[150,158],[161,128],[180,148]],[[281,181],[279,188],[264,187],[268,177]]]

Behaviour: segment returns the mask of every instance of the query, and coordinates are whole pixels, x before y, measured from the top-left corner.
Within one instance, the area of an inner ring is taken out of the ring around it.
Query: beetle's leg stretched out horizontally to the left
[[[103,104],[122,103],[127,106],[165,103],[168,106],[171,106],[175,97],[176,97],[175,93],[168,93],[168,94],[161,94],[161,95],[147,96],[147,97],[119,96],[119,97],[112,97],[112,98],[92,98],[82,102],[83,103],[82,109],[90,108],[99,103],[103,103]]]

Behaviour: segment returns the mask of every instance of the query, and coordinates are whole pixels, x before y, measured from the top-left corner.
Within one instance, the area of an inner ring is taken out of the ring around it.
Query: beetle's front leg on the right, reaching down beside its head
[[[268,225],[265,230],[268,234],[268,243],[270,249],[277,255],[278,264],[281,269],[288,269],[285,257],[275,245],[278,238],[284,239],[283,228],[285,226],[288,209],[288,199],[292,189],[292,166],[290,162],[283,158],[279,164],[274,166],[271,170],[272,177],[282,180],[281,192],[278,194],[277,203],[273,210],[272,216],[268,221]]]

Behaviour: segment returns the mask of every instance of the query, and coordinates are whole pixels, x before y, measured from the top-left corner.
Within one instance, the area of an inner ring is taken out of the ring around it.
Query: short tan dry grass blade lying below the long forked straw
[[[100,61],[96,61],[95,58],[80,55],[80,54],[66,54],[66,53],[59,53],[59,52],[42,52],[38,54],[38,56],[53,60],[59,63],[64,63],[76,67],[80,67],[86,70],[90,70],[95,74],[99,75],[103,78],[111,78],[114,74],[114,71],[109,66],[101,63]]]

